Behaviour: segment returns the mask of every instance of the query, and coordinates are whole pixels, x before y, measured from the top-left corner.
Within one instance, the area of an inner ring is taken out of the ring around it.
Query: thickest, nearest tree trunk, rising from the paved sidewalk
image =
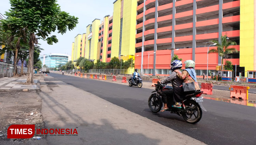
[[[28,59],[28,78],[26,83],[33,83],[33,69],[34,69],[34,43],[35,34],[30,33],[29,36],[29,59]]]

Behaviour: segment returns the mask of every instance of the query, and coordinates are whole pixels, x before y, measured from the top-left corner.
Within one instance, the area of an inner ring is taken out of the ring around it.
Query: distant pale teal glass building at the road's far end
[[[43,65],[46,65],[48,68],[58,67],[58,65],[65,65],[68,62],[69,55],[67,54],[57,54],[52,53],[49,55],[43,55],[40,57]]]

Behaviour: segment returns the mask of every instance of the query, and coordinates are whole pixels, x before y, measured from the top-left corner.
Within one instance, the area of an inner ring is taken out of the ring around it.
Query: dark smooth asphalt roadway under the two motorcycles
[[[54,77],[51,80],[66,82],[209,145],[256,144],[255,107],[204,99],[207,112],[203,111],[200,122],[193,125],[167,111],[152,113],[147,104],[150,89],[54,73],[49,76]],[[80,94],[74,94],[74,97],[76,95]]]

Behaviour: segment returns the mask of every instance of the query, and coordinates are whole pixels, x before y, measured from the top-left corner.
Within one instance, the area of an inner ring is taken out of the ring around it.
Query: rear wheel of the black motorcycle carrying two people
[[[191,124],[196,124],[200,121],[202,118],[202,109],[200,108],[199,104],[195,102],[194,100],[186,100],[184,101],[185,108],[187,111],[190,111],[191,113],[184,113],[182,114],[182,117],[185,119],[186,122]]]

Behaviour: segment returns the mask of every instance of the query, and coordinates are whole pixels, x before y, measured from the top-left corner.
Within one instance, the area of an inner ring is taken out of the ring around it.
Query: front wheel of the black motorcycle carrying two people
[[[150,110],[154,113],[157,113],[161,110],[162,108],[162,101],[159,97],[156,96],[156,94],[152,94],[148,98],[148,107]]]

